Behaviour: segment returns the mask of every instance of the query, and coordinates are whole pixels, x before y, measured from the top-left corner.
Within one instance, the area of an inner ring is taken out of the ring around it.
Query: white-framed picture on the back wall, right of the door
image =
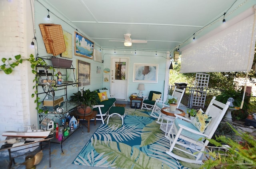
[[[134,63],[133,82],[157,83],[158,64]]]

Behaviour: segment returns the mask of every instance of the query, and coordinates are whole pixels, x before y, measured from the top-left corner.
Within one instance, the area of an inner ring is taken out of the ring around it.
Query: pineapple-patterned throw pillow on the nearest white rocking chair
[[[204,133],[211,120],[212,116],[208,116],[208,114],[205,114],[203,110],[200,109],[191,123],[199,130],[199,132]]]

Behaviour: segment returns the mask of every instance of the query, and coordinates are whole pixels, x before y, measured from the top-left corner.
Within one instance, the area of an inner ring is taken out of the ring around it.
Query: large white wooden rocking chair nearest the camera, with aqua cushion
[[[215,100],[215,98],[215,96],[212,98],[205,112],[205,114],[212,116],[212,118],[208,124],[208,127],[203,133],[193,125],[194,121],[179,115],[175,115],[176,118],[174,123],[168,132],[168,138],[170,140],[170,149],[166,151],[168,155],[188,163],[202,163],[205,148],[209,143],[209,141],[205,138],[212,138],[230,104],[230,102],[227,102],[226,104],[218,102]],[[187,158],[175,154],[173,152],[174,149],[185,153],[186,155],[184,156]],[[189,156],[194,156],[194,158],[190,159],[188,158]]]

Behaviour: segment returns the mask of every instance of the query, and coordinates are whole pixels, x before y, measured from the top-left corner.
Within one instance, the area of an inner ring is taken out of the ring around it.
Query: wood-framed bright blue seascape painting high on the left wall
[[[93,59],[93,42],[75,31],[75,55]]]

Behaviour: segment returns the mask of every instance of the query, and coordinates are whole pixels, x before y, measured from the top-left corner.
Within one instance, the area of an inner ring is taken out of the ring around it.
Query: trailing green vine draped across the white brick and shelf
[[[30,67],[32,68],[32,73],[35,75],[35,78],[33,79],[33,83],[35,83],[35,85],[33,86],[33,89],[35,89],[38,86],[38,81],[39,81],[39,77],[37,76],[37,71],[36,71],[36,66],[40,65],[42,67],[45,67],[45,69],[51,69],[53,70],[53,67],[48,67],[47,63],[40,57],[34,57],[34,55],[30,54],[30,58],[29,59],[22,59],[21,55],[16,55],[14,56],[15,59],[12,58],[2,58],[2,62],[4,63],[3,65],[0,65],[0,69],[2,69],[4,71],[5,74],[10,75],[13,72],[13,69],[18,66],[19,64],[22,64],[23,61],[29,61],[30,62]],[[34,93],[31,95],[32,98],[34,98],[35,94],[38,94],[38,90],[36,88],[36,90],[34,91]],[[48,113],[48,111],[40,109],[40,102],[39,102],[39,97],[36,97],[35,99],[35,103],[36,104],[36,110],[38,110],[38,113]]]

